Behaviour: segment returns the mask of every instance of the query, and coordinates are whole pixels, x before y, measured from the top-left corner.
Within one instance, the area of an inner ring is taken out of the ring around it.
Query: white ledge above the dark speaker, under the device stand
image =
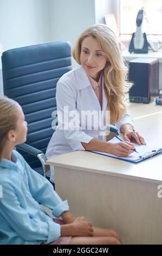
[[[159,60],[159,89],[162,89],[162,51],[148,53],[129,53],[122,51],[122,57],[126,62],[136,58],[157,58]]]

